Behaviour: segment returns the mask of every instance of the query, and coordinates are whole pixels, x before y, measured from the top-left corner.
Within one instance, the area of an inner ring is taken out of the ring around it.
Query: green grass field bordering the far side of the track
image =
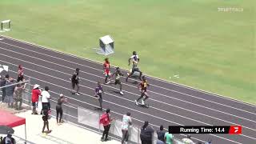
[[[254,0],[1,0],[0,20],[11,19],[12,30],[0,34],[98,62],[103,57],[92,48],[110,34],[116,66],[128,69],[137,50],[146,74],[255,104],[255,6]]]

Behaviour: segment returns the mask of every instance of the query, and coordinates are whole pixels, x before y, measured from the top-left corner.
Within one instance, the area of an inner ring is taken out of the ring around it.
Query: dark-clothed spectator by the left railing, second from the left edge
[[[8,103],[8,107],[13,108],[14,107],[14,79],[9,78],[9,80],[6,81],[6,98],[5,101]]]

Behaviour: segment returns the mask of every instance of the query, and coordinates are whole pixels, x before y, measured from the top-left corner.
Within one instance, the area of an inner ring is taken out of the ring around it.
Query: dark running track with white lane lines
[[[98,100],[93,97],[97,81],[103,82],[102,64],[88,59],[63,54],[42,46],[18,41],[12,38],[0,40],[0,64],[10,66],[10,75],[16,78],[18,64],[25,68],[26,78],[32,78],[32,84],[50,86],[52,97],[58,98],[62,93],[69,97],[70,103],[64,106],[69,119],[77,122],[77,107],[94,109]],[[103,58],[102,58],[103,59]],[[70,80],[74,69],[79,67],[80,91],[82,95],[70,94]],[[122,71],[126,74],[126,71]],[[194,142],[205,142],[211,138],[214,143],[256,143],[256,106],[217,94],[211,94],[188,86],[166,82],[158,78],[147,77],[151,86],[150,98],[146,101],[150,108],[134,105],[139,97],[138,82],[130,78],[125,82],[122,78],[124,95],[118,94],[118,86],[103,86],[103,108],[110,108],[114,117],[122,118],[122,114],[130,111],[134,124],[142,126],[148,120],[155,130],[163,125],[213,126],[241,125],[241,135],[228,134],[192,134]],[[51,102],[54,108],[56,101]],[[176,138],[184,138],[183,134],[175,134]]]

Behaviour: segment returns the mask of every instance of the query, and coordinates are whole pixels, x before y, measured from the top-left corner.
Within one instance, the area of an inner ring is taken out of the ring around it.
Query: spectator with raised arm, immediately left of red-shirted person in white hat
[[[22,94],[25,90],[26,84],[18,84],[14,89],[14,101],[15,101],[15,110],[22,110]],[[19,105],[18,105],[19,102]]]

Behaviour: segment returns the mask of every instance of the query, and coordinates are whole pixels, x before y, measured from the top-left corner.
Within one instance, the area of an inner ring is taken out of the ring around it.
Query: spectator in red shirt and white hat
[[[39,95],[41,95],[41,90],[39,89],[39,85],[35,84],[32,90],[32,114],[38,114],[38,112],[36,111],[36,107],[38,106],[38,98]]]

